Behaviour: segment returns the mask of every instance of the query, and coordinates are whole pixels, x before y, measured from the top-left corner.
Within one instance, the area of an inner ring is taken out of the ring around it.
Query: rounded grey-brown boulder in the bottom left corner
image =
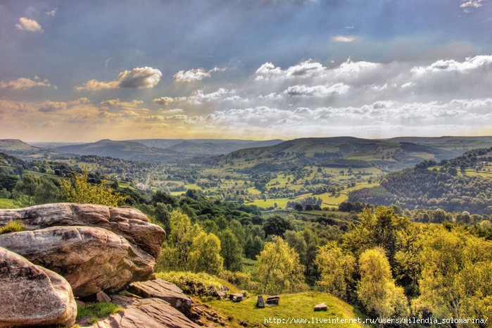
[[[0,327],[66,326],[77,316],[68,282],[0,247]]]

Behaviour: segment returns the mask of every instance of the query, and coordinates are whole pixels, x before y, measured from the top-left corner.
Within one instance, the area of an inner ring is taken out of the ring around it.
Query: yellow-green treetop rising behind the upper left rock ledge
[[[118,203],[125,201],[125,197],[113,192],[111,187],[106,186],[106,181],[93,185],[87,182],[89,173],[74,175],[70,180],[61,179],[60,188],[66,201],[72,203],[99,204],[106,206],[118,206]]]

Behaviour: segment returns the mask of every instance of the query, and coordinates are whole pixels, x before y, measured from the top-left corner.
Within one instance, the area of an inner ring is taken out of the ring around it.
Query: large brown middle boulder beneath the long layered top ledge
[[[0,246],[65,277],[75,296],[119,291],[155,278],[153,256],[99,227],[50,227],[0,235]]]

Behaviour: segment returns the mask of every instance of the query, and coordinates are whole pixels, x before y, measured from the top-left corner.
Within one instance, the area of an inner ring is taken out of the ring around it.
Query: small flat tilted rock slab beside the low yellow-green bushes
[[[178,286],[163,279],[133,282],[129,290],[144,298],[160,298],[182,313],[189,313],[191,309],[191,298],[184,295]]]

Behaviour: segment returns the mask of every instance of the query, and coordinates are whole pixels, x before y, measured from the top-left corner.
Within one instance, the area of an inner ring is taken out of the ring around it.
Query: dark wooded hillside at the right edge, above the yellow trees
[[[379,187],[352,191],[348,201],[492,214],[491,163],[491,148],[468,151],[439,165],[426,161],[386,175]]]

